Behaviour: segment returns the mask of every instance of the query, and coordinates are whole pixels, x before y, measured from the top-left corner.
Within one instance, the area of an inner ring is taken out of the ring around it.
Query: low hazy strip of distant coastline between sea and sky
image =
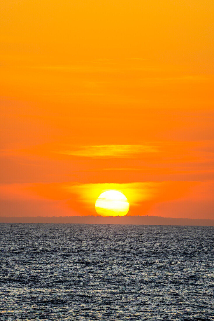
[[[0,223],[73,223],[73,224],[136,224],[136,225],[191,225],[191,226],[214,226],[214,220],[210,219],[187,219],[161,216],[23,216],[23,217],[0,217]]]

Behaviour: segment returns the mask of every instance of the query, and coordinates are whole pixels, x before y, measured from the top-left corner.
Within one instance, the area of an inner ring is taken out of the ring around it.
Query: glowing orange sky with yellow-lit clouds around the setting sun
[[[0,4],[1,216],[214,218],[214,3]]]

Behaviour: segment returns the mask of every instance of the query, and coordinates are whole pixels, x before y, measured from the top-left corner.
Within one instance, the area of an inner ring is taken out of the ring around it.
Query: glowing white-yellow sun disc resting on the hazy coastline
[[[108,190],[99,195],[95,209],[101,216],[124,216],[129,211],[129,202],[123,193]]]

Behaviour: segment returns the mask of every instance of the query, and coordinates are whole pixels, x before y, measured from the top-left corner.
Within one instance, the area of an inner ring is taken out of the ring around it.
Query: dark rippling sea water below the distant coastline
[[[214,320],[214,228],[0,224],[0,318]]]

